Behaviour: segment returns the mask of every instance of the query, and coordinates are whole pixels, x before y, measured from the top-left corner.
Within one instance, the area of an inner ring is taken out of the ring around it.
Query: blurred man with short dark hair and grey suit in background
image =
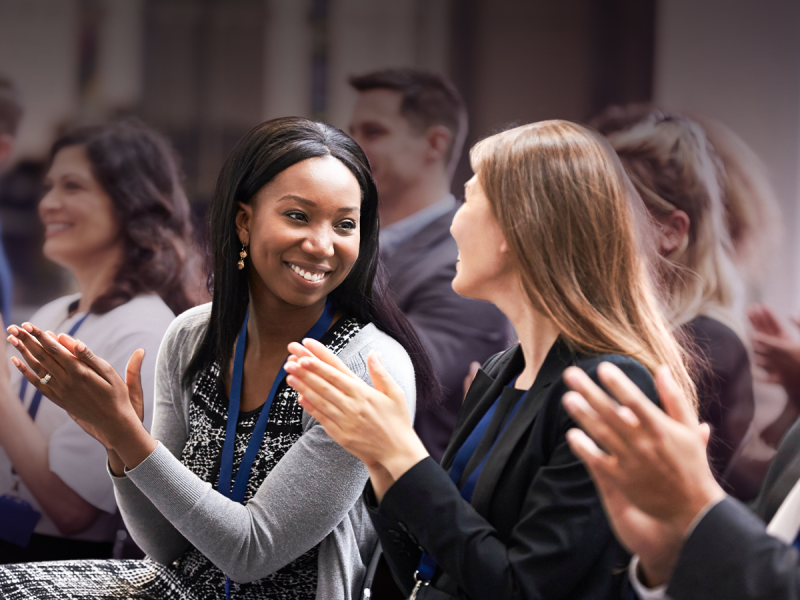
[[[381,257],[389,288],[414,325],[445,388],[440,406],[419,406],[414,424],[440,461],[473,361],[506,348],[508,322],[489,303],[463,298],[451,282],[458,247],[450,224],[459,202],[450,184],[467,133],[461,95],[444,77],[389,69],[350,79],[358,94],[350,134],[378,186]]]

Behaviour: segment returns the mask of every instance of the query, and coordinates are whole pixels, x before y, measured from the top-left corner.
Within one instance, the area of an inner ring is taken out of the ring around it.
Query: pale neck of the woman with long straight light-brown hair
[[[561,332],[555,323],[530,305],[521,283],[517,282],[513,287],[516,289],[512,293],[503,294],[504,301],[496,304],[511,321],[519,336],[525,368],[517,377],[515,387],[527,390],[533,385],[550,348]]]

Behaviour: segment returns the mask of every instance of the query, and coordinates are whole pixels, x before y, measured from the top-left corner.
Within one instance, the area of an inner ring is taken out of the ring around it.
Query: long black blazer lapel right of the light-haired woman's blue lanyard
[[[497,445],[486,459],[486,465],[484,465],[483,471],[478,477],[471,504],[480,514],[487,514],[494,488],[503,474],[503,467],[508,463],[509,457],[520,438],[536,419],[536,415],[542,408],[553,385],[561,379],[564,370],[574,363],[574,353],[566,344],[560,340],[556,341],[550,348],[550,352],[548,352],[541,369],[539,369],[539,374],[536,376],[536,380],[533,382],[519,412],[514,415],[514,420],[509,423],[508,428],[497,441]]]

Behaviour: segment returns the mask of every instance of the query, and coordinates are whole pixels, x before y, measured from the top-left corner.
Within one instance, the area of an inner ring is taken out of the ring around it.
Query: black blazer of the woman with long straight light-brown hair
[[[439,569],[419,598],[618,598],[629,556],[614,539],[592,480],[570,452],[565,434],[575,426],[561,404],[561,374],[577,365],[596,379],[601,361],[619,366],[653,401],[650,374],[635,360],[551,348],[525,403],[489,455],[472,498],[465,502],[446,469],[502,388],[524,366],[514,346],[478,372],[464,401],[440,467],[420,461],[376,506],[365,501],[387,562],[409,593],[424,548]],[[510,410],[498,406],[465,475],[491,447]]]

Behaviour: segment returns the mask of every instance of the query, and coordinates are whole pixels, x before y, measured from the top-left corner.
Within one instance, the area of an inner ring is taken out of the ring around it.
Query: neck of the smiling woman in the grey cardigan
[[[311,306],[301,307],[274,298],[259,298],[258,294],[251,292],[250,317],[247,321],[248,354],[254,358],[273,354],[286,356],[289,343],[299,342],[324,309],[325,298]]]

